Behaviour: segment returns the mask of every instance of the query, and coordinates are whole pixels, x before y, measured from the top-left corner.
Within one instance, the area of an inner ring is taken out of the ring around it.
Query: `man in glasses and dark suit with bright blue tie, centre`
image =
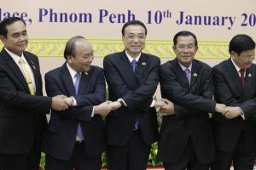
[[[125,50],[103,60],[109,99],[114,101],[106,118],[108,170],[146,169],[150,145],[158,139],[153,101],[159,82],[160,59],[142,53],[146,26],[132,20],[122,28]]]

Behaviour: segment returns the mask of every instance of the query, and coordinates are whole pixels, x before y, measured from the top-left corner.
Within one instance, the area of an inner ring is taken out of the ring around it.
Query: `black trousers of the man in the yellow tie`
[[[25,154],[0,154],[0,170],[38,170],[41,150],[32,145],[32,149]]]

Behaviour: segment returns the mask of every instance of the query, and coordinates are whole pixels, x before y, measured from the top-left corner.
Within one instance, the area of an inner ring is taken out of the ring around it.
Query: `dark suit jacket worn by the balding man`
[[[64,94],[73,96],[77,101],[77,106],[66,111],[51,112],[43,144],[46,154],[68,160],[73,154],[80,123],[88,156],[100,156],[105,143],[104,124],[100,115],[91,117],[91,113],[94,105],[105,101],[106,85],[102,68],[91,65],[88,74],[82,74],[79,95],[75,94],[67,62],[46,73],[45,85],[49,96]]]

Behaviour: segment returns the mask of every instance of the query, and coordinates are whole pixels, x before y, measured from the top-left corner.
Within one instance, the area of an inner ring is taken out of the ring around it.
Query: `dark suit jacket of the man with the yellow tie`
[[[34,74],[35,95],[14,59],[4,48],[0,53],[0,154],[27,153],[35,141],[40,149],[47,124],[51,98],[42,96],[38,57],[28,52],[24,56]]]

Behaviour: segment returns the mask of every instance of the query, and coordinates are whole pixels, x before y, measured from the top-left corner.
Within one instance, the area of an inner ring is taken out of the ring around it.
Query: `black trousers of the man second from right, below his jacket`
[[[202,164],[195,156],[195,150],[191,139],[177,161],[164,162],[165,170],[208,170],[208,164]]]

